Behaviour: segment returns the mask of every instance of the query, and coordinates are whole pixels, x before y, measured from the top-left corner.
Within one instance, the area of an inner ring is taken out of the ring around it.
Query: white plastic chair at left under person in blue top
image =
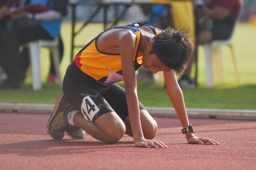
[[[60,75],[59,63],[60,63],[60,54],[59,54],[59,37],[54,40],[45,40],[39,39],[36,41],[28,42],[25,47],[28,48],[30,63],[31,63],[31,72],[32,72],[32,86],[33,90],[42,89],[41,82],[41,68],[40,68],[40,48],[48,48],[53,55],[53,65],[58,79],[58,84],[62,86],[62,80]]]

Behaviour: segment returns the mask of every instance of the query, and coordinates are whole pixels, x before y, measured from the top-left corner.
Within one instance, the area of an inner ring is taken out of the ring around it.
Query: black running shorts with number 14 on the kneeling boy
[[[72,62],[62,85],[63,94],[86,120],[95,121],[99,116],[115,112],[123,121],[129,115],[125,89],[117,84],[104,86],[81,71]],[[140,109],[145,109],[139,102]]]

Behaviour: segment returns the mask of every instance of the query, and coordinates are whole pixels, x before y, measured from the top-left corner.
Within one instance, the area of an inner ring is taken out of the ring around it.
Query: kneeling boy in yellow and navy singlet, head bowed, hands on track
[[[124,134],[132,136],[137,147],[166,148],[152,140],[157,123],[137,96],[136,70],[142,65],[157,73],[163,71],[167,94],[183,126],[188,143],[213,139],[193,135],[176,73],[182,73],[194,49],[183,30],[165,31],[143,23],[114,27],[88,43],[68,66],[63,94],[55,103],[47,131],[62,139],[65,131],[73,139],[87,132],[105,143],[115,143]],[[125,89],[115,84],[123,81]]]

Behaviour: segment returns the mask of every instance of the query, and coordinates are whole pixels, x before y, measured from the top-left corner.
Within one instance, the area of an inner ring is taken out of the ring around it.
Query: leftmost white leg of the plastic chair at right
[[[210,44],[204,44],[205,62],[206,62],[206,86],[213,87],[213,72],[212,72],[212,47]]]

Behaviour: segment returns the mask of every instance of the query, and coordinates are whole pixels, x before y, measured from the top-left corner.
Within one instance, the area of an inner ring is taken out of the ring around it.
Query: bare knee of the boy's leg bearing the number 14
[[[104,133],[103,142],[105,143],[115,143],[120,140],[125,134],[124,123],[116,123],[108,127],[108,130]]]

